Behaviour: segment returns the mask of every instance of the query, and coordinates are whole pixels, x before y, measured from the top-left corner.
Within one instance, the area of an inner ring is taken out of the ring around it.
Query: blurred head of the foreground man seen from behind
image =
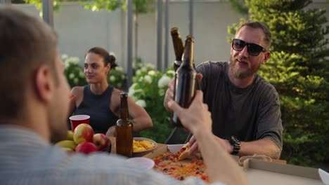
[[[55,32],[41,18],[0,6],[0,118],[27,118],[43,107],[49,139],[67,133],[69,88],[56,45]]]

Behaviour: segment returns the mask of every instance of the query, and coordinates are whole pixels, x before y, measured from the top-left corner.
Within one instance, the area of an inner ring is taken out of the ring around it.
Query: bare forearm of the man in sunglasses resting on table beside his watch
[[[241,142],[239,156],[266,155],[279,159],[281,149],[271,139],[259,139],[253,142]]]

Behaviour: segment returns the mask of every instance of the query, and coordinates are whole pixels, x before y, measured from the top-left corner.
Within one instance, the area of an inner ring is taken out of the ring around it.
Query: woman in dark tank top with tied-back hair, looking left
[[[89,124],[95,133],[114,136],[115,123],[120,115],[120,93],[108,84],[110,69],[115,69],[115,57],[103,48],[91,48],[86,53],[84,75],[89,85],[72,88],[70,113],[90,116]],[[128,97],[129,114],[134,123],[134,132],[153,126],[150,116],[143,107]]]

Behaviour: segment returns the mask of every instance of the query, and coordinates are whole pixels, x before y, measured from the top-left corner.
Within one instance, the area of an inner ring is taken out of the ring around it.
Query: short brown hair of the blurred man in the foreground
[[[0,6],[0,116],[15,118],[25,104],[27,80],[46,64],[56,75],[57,36],[41,18]]]

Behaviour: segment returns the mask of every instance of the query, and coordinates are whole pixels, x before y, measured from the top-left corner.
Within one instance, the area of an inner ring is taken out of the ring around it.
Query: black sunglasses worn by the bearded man
[[[261,52],[266,52],[266,49],[262,46],[259,46],[256,43],[247,43],[240,39],[233,39],[232,48],[233,50],[241,51],[247,46],[249,55],[258,56]]]

